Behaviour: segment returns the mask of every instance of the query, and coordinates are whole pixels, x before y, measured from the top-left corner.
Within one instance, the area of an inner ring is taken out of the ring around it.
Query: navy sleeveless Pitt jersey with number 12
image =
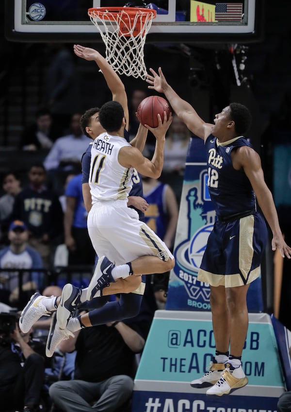
[[[232,166],[231,151],[236,147],[252,145],[238,137],[219,143],[209,135],[205,142],[208,165],[208,189],[217,216],[226,217],[256,208],[256,197],[243,170]]]

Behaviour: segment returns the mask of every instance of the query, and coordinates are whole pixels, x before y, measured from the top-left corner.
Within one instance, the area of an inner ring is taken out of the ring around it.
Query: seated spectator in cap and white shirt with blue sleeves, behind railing
[[[27,245],[28,230],[24,222],[16,220],[10,224],[8,239],[10,245],[0,251],[1,269],[41,269],[42,259],[39,253]],[[19,272],[0,273],[1,300],[5,295],[9,300],[5,302],[9,305],[16,305],[22,308],[27,298],[35,291],[41,290],[43,284],[43,273],[23,272],[22,273],[22,298],[19,302]]]

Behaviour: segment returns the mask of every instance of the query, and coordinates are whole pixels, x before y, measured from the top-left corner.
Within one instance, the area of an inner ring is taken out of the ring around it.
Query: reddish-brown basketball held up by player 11
[[[170,104],[161,96],[146,97],[137,108],[137,118],[143,124],[150,127],[158,127],[158,113],[163,121],[163,112],[166,112],[167,119],[171,113]]]

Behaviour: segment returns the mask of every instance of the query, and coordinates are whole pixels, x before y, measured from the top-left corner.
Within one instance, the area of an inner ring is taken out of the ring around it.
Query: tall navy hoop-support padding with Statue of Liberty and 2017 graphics
[[[210,311],[210,287],[197,280],[198,270],[216,214],[207,187],[204,142],[190,140],[181,193],[174,256],[165,309]],[[261,278],[251,283],[247,294],[249,312],[263,311]]]

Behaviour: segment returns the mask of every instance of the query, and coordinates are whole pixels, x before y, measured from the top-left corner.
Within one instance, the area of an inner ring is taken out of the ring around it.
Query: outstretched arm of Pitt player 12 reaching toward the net
[[[210,135],[212,125],[202,120],[191,104],[178,96],[174,89],[167,83],[160,67],[159,73],[153,69],[150,69],[150,71],[152,75],[147,74],[146,76],[146,82],[150,85],[148,88],[163,93],[179,119],[187,125],[191,132],[205,140],[206,137]]]

